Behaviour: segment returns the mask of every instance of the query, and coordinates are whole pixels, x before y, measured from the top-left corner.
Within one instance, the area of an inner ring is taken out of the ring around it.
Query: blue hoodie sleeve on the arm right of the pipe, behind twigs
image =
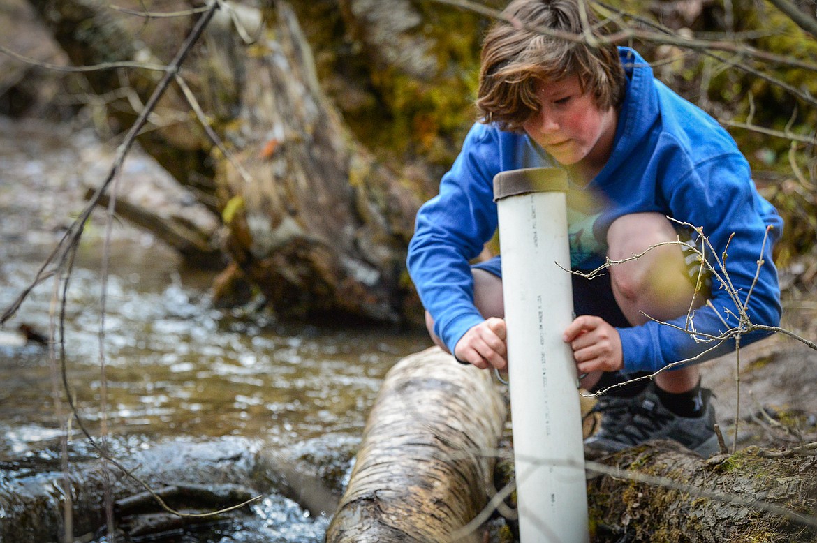
[[[667,324],[648,322],[619,329],[628,372],[655,372],[667,364],[695,358],[703,362],[768,335],[752,324],[777,326],[780,320],[777,269],[772,246],[782,234],[783,220],[757,194],[748,163],[740,154],[726,154],[697,164],[663,189],[672,216],[703,227],[708,238],[705,257],[712,264],[712,308],[704,306]],[[770,229],[767,232],[767,227]],[[710,247],[711,245],[711,247]]]

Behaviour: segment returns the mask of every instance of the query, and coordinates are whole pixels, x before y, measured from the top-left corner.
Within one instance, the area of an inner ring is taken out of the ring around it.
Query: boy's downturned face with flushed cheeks
[[[595,176],[613,149],[617,115],[600,111],[578,76],[539,82],[539,110],[522,127],[528,136],[565,166],[576,165]]]

